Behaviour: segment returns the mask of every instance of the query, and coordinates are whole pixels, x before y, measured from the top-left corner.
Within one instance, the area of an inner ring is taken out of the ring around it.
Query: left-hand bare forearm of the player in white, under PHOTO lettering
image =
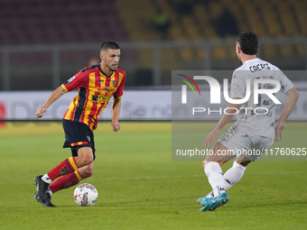
[[[242,99],[240,97],[234,97],[233,99]],[[240,109],[240,107],[242,106],[242,104],[228,104],[228,109],[227,109],[227,113],[228,114],[224,114],[220,120],[219,123],[215,126],[215,128],[213,129],[213,131],[211,133],[209,133],[209,135],[206,137],[203,145],[205,147],[209,147],[210,144],[214,143],[215,139],[217,138],[217,136],[219,135],[221,129],[228,124],[228,122],[231,121],[231,119],[237,114],[237,111]]]

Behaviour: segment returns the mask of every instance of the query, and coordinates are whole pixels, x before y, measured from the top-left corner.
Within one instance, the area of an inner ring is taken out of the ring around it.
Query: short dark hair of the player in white
[[[247,55],[254,55],[258,51],[258,38],[254,32],[240,32],[237,34],[237,43]]]

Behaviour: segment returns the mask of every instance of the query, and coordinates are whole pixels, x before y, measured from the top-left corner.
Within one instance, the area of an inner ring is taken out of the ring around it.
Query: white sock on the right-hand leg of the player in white
[[[243,166],[242,164],[238,164],[236,161],[234,161],[232,167],[224,174],[224,183],[223,183],[224,189],[228,190],[234,184],[236,184],[237,181],[243,177],[244,171],[246,169],[247,167]]]

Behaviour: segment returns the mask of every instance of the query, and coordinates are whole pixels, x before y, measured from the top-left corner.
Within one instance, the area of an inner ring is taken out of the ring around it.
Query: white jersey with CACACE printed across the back
[[[247,94],[247,79],[250,79],[250,97],[241,106],[237,114],[237,122],[234,124],[243,133],[256,134],[274,139],[274,119],[276,104],[266,94],[258,94],[258,103],[254,103],[254,80],[274,79],[281,84],[281,91],[291,89],[293,83],[284,73],[271,63],[260,60],[247,60],[237,68],[231,80],[231,98],[245,98]],[[257,84],[261,89],[272,89],[274,84]]]

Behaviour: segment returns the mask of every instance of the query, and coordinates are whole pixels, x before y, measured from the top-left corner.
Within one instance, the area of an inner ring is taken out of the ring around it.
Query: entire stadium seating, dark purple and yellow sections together
[[[179,7],[182,3],[189,6],[185,13]],[[80,0],[3,0],[0,2],[0,43],[159,41],[161,38],[151,24],[156,6],[169,14],[172,26],[168,39],[174,41],[219,38],[215,22],[225,7],[236,18],[239,31],[253,31],[259,37],[307,35],[307,3],[302,0],[87,0],[86,3]],[[264,48],[263,54],[268,58],[306,55],[305,44],[276,44]],[[236,59],[231,49],[233,47],[225,45],[213,47],[212,57]],[[142,66],[149,68],[152,58],[146,57],[146,53],[148,51],[138,51],[138,57]],[[168,49],[165,53],[172,67],[205,56],[203,49],[189,47]],[[63,60],[71,59],[64,56]]]

